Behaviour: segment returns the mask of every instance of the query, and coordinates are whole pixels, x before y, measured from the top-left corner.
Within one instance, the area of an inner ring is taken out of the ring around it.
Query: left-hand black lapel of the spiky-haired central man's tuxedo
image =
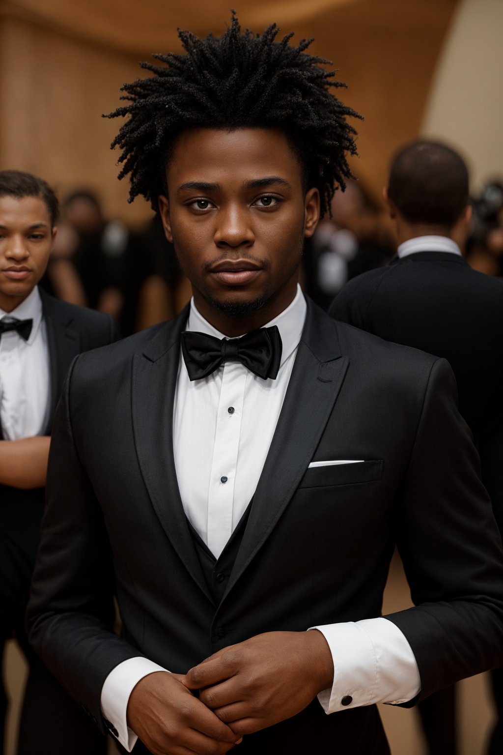
[[[187,307],[158,330],[143,353],[133,356],[133,431],[140,469],[159,522],[192,578],[211,599],[183,511],[173,455],[179,338],[188,313]]]

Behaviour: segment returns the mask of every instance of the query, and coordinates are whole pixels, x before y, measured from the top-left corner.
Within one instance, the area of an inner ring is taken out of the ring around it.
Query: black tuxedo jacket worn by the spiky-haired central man
[[[81,355],[67,378],[29,607],[30,639],[66,689],[103,727],[103,682],[127,658],[182,673],[257,633],[379,616],[395,541],[417,606],[388,618],[416,655],[422,695],[500,664],[501,541],[452,372],[310,302],[244,538],[213,602],[173,462],[186,317]],[[308,468],[341,459],[365,461]],[[107,623],[114,587],[121,637]],[[334,747],[387,753],[375,707],[326,716],[314,701],[239,751]]]

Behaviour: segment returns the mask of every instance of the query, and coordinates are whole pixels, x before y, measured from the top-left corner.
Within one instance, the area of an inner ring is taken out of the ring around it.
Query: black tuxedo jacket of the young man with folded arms
[[[72,359],[81,351],[110,344],[117,338],[115,321],[84,307],[54,299],[40,289],[42,313],[47,328],[50,363],[50,411],[45,435],[51,435],[57,401]],[[35,564],[40,522],[44,511],[44,488],[21,490],[0,485],[0,600],[11,632],[13,624],[23,630],[29,596],[29,581]],[[19,626],[20,624],[20,626]]]

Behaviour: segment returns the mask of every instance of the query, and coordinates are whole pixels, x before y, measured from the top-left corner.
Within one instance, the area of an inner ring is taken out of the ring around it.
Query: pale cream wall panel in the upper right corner
[[[503,2],[462,0],[452,20],[422,133],[449,141],[472,183],[503,176]]]

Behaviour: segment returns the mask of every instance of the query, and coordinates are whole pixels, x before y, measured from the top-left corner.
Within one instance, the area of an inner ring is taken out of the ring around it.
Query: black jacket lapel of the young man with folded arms
[[[60,398],[66,372],[72,359],[81,352],[81,337],[78,331],[72,328],[72,316],[69,316],[63,307],[60,307],[60,302],[45,294],[41,289],[38,290],[41,295],[42,313],[48,337],[51,385],[48,416],[51,421],[46,432],[51,433],[52,418]]]

